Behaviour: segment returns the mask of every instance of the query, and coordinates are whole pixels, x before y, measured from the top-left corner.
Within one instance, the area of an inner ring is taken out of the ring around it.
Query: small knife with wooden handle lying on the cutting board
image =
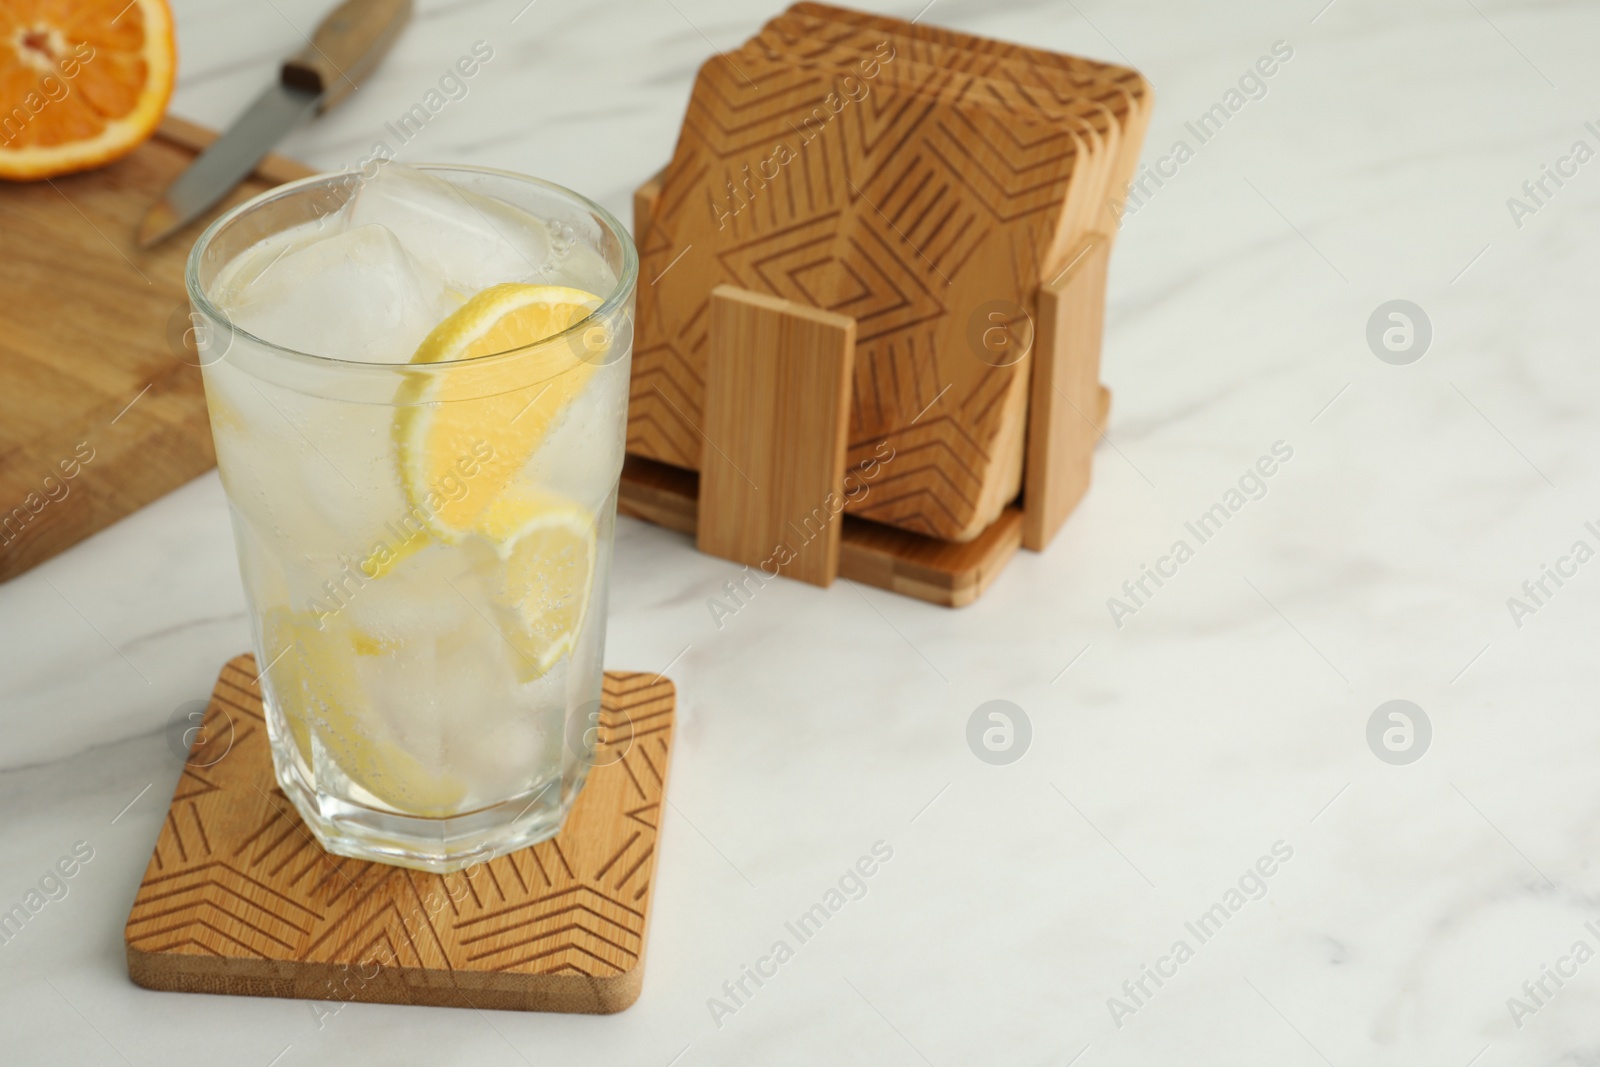
[[[205,214],[290,130],[354,93],[410,18],[411,0],[346,0],[334,8],[306,50],[283,62],[277,83],[150,205],[139,222],[139,246],[150,248]]]

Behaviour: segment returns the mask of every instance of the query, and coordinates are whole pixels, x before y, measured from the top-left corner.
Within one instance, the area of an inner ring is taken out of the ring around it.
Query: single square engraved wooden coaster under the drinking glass
[[[128,973],[182,992],[621,1011],[643,982],[674,707],[666,678],[608,672],[597,761],[560,833],[434,875],[317,845],[272,773],[256,661],[238,656],[128,915]]]

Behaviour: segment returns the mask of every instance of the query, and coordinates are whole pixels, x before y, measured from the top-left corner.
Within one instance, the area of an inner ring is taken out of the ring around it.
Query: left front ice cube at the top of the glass
[[[382,226],[290,245],[229,286],[222,310],[264,341],[368,363],[405,363],[453,310],[445,280]]]

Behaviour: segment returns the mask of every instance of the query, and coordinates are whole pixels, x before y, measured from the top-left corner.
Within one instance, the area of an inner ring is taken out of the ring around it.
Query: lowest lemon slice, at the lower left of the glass
[[[344,774],[398,811],[448,816],[467,795],[464,782],[435,774],[379,726],[366,721],[368,705],[357,656],[374,654],[381,643],[352,627],[307,613],[274,608],[262,619],[267,680],[282,702],[294,747],[312,763],[312,734]]]

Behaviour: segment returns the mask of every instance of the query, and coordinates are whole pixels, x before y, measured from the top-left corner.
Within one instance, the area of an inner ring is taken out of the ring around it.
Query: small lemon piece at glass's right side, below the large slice
[[[490,504],[478,525],[499,553],[494,589],[517,649],[517,677],[533,681],[573,651],[595,577],[595,520],[555,496],[512,490]]]

